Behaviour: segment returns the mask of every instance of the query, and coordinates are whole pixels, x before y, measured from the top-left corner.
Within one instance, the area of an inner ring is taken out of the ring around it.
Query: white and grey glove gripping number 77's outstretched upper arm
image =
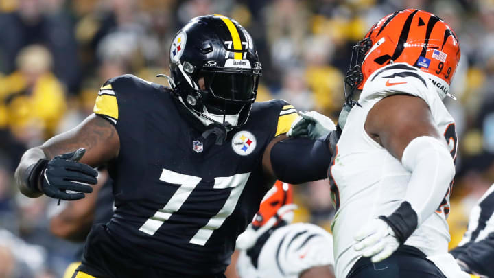
[[[316,140],[336,130],[333,121],[316,111],[299,111],[298,117],[287,132],[287,137],[305,137]]]

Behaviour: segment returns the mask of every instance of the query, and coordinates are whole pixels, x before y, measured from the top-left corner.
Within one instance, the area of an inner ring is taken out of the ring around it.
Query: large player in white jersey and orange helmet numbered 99
[[[459,60],[451,27],[415,9],[384,17],[353,47],[353,108],[329,168],[337,278],[467,275],[447,253],[457,139],[442,100]]]

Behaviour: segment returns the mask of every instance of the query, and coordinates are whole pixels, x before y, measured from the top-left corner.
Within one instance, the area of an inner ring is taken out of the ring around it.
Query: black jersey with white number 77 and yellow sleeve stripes
[[[115,125],[120,139],[108,165],[116,209],[106,226],[91,231],[80,270],[185,277],[228,266],[237,235],[269,187],[263,152],[297,113],[283,100],[257,102],[246,124],[216,145],[184,108],[166,87],[135,76],[102,86],[95,113]]]

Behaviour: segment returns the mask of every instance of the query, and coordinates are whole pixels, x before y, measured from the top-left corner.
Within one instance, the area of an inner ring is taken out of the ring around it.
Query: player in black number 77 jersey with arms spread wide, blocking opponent
[[[21,159],[21,192],[62,200],[84,198],[92,167],[108,164],[116,209],[89,233],[73,277],[224,277],[274,180],[327,174],[336,132],[287,139],[298,113],[283,100],[254,102],[261,63],[237,22],[192,19],[174,37],[170,69],[170,88],[108,80],[93,115]]]

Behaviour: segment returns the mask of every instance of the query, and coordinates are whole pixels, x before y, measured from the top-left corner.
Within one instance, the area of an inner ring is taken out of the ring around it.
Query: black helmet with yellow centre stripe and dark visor
[[[206,126],[244,125],[257,95],[261,63],[252,37],[222,15],[191,19],[170,47],[170,86]]]

